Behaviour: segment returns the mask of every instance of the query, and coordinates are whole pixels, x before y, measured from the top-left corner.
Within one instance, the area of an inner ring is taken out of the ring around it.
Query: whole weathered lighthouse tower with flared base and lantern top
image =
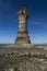
[[[19,16],[19,31],[15,39],[15,44],[31,44],[28,32],[27,32],[27,20],[28,13],[26,5],[20,5],[20,11],[17,12]]]

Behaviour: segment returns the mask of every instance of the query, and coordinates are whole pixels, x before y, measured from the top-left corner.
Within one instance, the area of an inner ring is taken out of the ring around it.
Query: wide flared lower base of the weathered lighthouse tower
[[[31,44],[30,36],[27,32],[17,32],[17,36],[14,44]]]

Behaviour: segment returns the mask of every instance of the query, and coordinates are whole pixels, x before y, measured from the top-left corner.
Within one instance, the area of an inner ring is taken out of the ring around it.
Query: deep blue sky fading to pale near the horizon
[[[13,44],[17,35],[17,11],[26,4],[32,44],[47,44],[47,0],[0,0],[0,44]]]

